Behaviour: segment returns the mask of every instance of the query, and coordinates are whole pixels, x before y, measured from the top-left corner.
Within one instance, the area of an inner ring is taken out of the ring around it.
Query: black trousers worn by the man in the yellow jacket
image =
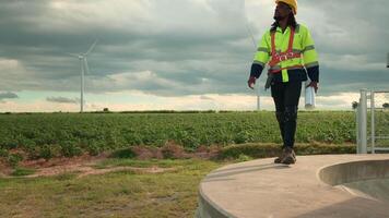
[[[271,85],[271,96],[275,104],[275,117],[279,121],[283,147],[294,146],[298,100],[302,93],[302,82],[275,82]]]

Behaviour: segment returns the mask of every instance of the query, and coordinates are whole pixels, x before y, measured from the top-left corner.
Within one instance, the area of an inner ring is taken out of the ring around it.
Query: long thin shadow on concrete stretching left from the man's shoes
[[[287,166],[287,165],[276,165],[276,164],[264,164],[264,165],[258,165],[258,166],[237,167],[237,168],[214,171],[211,174],[209,174],[203,180],[203,182],[211,182],[211,181],[214,181],[214,179],[216,179],[216,178],[219,178],[219,180],[221,180],[223,177],[229,177],[229,175],[234,175],[234,174],[243,174],[243,173],[269,170],[269,169],[288,169],[288,168],[290,168],[290,166]],[[231,180],[231,179],[228,179],[228,180]]]

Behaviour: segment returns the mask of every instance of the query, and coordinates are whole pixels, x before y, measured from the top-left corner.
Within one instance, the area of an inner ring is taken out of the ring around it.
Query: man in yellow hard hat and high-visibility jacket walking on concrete
[[[302,82],[310,78],[308,86],[318,89],[319,63],[314,40],[308,28],[297,24],[297,0],[275,0],[275,22],[259,43],[248,86],[254,88],[256,80],[269,64],[267,88],[275,104],[275,117],[283,140],[282,154],[276,164],[293,165],[298,100]]]

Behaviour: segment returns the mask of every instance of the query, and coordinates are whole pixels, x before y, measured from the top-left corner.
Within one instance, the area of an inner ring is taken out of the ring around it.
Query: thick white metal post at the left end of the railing
[[[361,89],[359,99],[359,149],[358,154],[367,154],[367,89]]]

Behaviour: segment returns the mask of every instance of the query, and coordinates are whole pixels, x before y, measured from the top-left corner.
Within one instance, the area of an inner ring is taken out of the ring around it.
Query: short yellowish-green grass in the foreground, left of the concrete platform
[[[131,170],[89,175],[0,179],[1,217],[193,217],[198,185],[227,162],[108,159],[99,165],[169,167],[162,173]]]

